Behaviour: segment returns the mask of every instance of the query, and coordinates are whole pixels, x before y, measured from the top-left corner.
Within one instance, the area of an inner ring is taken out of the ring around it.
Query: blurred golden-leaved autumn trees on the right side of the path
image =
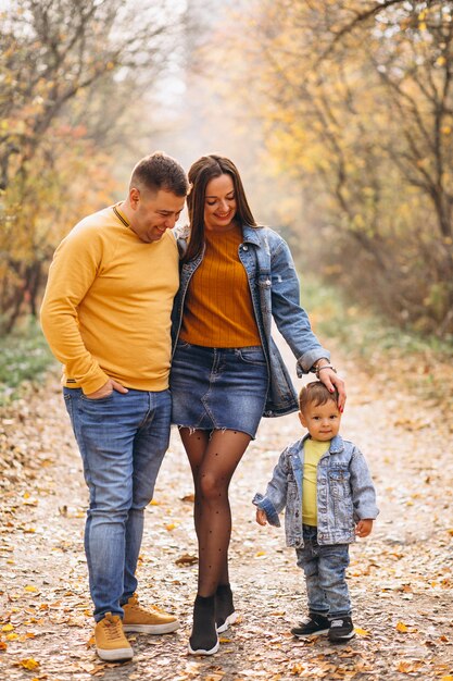
[[[236,50],[235,91],[248,74],[241,96],[305,197],[312,262],[439,335],[453,332],[452,36],[452,2],[265,0]]]

